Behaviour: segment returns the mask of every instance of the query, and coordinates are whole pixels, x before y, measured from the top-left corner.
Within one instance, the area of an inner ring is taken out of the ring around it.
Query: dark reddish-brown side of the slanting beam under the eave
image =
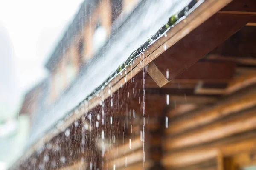
[[[169,69],[169,80],[172,80],[238,31],[247,23],[248,18],[250,17],[244,15],[239,17],[238,15],[215,14],[189,33],[188,39],[180,40],[154,59],[154,63],[163,74],[166,73],[167,68],[161,69],[160,65],[168,63],[166,67]],[[217,23],[216,20],[218,20]]]

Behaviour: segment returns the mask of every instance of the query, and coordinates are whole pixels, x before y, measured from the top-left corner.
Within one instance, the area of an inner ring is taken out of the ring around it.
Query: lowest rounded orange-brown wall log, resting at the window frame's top
[[[234,139],[225,139],[224,141],[215,142],[192,149],[185,149],[174,153],[166,153],[162,163],[166,167],[186,167],[192,164],[200,163],[209,159],[217,158],[221,153],[222,156],[233,156],[238,153],[250,151],[255,148],[256,134],[233,137]],[[168,144],[170,141],[166,141]]]

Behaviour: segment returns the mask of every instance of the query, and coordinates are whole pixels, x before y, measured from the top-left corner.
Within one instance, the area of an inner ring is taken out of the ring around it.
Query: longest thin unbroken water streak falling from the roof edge
[[[145,162],[145,54],[143,53],[143,167]]]

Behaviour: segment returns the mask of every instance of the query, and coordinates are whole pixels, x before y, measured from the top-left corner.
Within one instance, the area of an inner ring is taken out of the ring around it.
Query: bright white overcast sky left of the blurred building
[[[13,43],[18,89],[47,75],[44,63],[83,0],[0,0],[0,24]]]

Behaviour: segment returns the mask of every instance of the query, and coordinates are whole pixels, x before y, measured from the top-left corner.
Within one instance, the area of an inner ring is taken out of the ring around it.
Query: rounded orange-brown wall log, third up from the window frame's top
[[[256,91],[254,89],[254,91],[251,90],[245,94],[239,93],[236,97],[230,96],[223,100],[223,102],[219,102],[215,106],[197,111],[187,119],[172,122],[166,130],[166,133],[172,135],[181,133],[185,130],[207,125],[215,120],[223,118],[224,116],[252,108],[256,105]]]

